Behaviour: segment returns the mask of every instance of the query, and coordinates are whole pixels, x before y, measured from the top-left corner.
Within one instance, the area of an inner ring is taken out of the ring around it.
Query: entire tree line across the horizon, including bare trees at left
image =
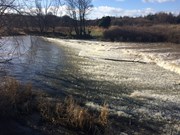
[[[62,8],[66,5],[67,15],[62,16]],[[156,13],[140,17],[110,17],[87,20],[92,10],[92,0],[0,0],[0,34],[13,35],[23,32],[45,34],[66,33],[76,38],[90,36],[89,26],[109,28],[110,26],[152,26],[154,24],[180,24],[180,14]],[[17,32],[12,31],[16,29]],[[62,34],[63,36],[63,34]]]

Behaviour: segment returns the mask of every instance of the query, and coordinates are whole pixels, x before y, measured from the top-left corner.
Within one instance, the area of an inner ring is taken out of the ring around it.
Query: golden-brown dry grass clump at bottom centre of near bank
[[[71,127],[86,134],[104,134],[108,126],[108,108],[102,107],[99,114],[78,105],[72,96],[64,102],[54,99],[41,99],[39,110],[42,118],[55,125]]]

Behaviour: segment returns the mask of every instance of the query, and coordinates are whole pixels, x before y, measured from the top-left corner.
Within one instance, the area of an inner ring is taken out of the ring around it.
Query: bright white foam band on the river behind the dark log
[[[169,60],[169,57],[172,57],[171,53],[173,52],[158,53],[158,50],[160,52],[162,47],[156,49],[143,49],[143,47],[141,49],[122,49],[123,47],[132,47],[133,45],[128,43],[117,44],[95,41],[59,40],[53,38],[46,39],[65,46],[70,45],[71,47],[78,49],[79,56],[81,57],[88,57],[92,59],[113,58],[117,60],[139,60],[146,63],[155,63],[164,69],[180,74],[180,59],[176,58],[174,60]],[[155,52],[153,52],[153,50],[155,50]],[[151,51],[151,53],[144,51]]]

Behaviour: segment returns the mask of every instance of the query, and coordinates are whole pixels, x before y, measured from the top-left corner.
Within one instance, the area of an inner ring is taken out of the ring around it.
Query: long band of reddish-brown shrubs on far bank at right
[[[103,33],[104,40],[124,42],[180,43],[179,25],[112,26]],[[166,32],[164,32],[164,30]]]

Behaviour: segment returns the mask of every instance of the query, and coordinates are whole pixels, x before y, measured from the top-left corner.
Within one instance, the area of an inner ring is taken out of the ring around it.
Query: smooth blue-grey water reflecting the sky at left
[[[52,80],[48,76],[61,76],[61,71],[67,68],[68,62],[63,50],[31,36],[6,38],[3,42],[3,59],[12,59],[1,63],[5,69],[4,75],[13,76],[25,83],[31,82],[47,90],[56,89],[50,85]]]

